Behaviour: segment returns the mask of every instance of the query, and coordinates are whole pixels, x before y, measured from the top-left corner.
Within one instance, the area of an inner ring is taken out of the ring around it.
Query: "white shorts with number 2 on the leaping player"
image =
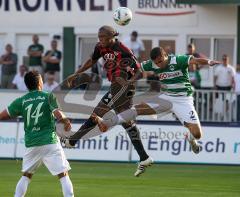
[[[173,112],[183,125],[184,122],[200,124],[198,114],[193,104],[193,97],[168,96],[165,94],[160,94],[158,98],[167,100],[172,103],[172,109],[170,112]]]

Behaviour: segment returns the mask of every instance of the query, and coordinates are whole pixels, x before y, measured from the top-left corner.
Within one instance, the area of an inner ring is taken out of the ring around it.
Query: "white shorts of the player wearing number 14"
[[[54,176],[71,169],[60,143],[26,148],[22,172],[33,174],[42,163]]]

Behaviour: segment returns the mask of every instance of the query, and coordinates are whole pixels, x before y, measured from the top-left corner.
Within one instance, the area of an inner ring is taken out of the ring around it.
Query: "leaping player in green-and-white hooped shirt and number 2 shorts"
[[[142,102],[110,119],[96,117],[99,128],[106,131],[109,127],[135,119],[138,115],[173,112],[190,131],[187,139],[193,152],[199,153],[200,146],[196,140],[201,138],[202,129],[193,105],[193,90],[189,81],[188,66],[191,64],[213,66],[220,62],[194,58],[191,55],[167,55],[162,47],[153,48],[150,57],[150,60],[141,63],[141,67],[143,71],[151,71],[159,75],[161,93],[158,100]]]

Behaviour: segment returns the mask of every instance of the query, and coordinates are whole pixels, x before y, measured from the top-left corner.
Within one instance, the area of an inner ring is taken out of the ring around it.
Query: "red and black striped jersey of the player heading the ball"
[[[98,42],[95,46],[92,60],[96,61],[101,57],[105,61],[104,69],[107,72],[109,81],[114,81],[116,77],[129,77],[129,67],[135,73],[140,68],[140,64],[132,51],[118,40],[110,47],[102,47]]]

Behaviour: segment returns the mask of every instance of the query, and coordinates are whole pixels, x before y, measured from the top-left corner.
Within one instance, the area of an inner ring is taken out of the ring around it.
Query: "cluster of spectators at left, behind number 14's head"
[[[38,35],[33,35],[32,44],[28,47],[27,65],[18,65],[18,55],[13,52],[11,44],[5,46],[5,53],[0,56],[2,89],[26,91],[24,75],[27,71],[36,70],[44,79],[44,90],[52,91],[59,86],[60,62],[62,53],[58,50],[57,41],[51,41],[51,48],[44,53],[44,46],[39,43]]]

